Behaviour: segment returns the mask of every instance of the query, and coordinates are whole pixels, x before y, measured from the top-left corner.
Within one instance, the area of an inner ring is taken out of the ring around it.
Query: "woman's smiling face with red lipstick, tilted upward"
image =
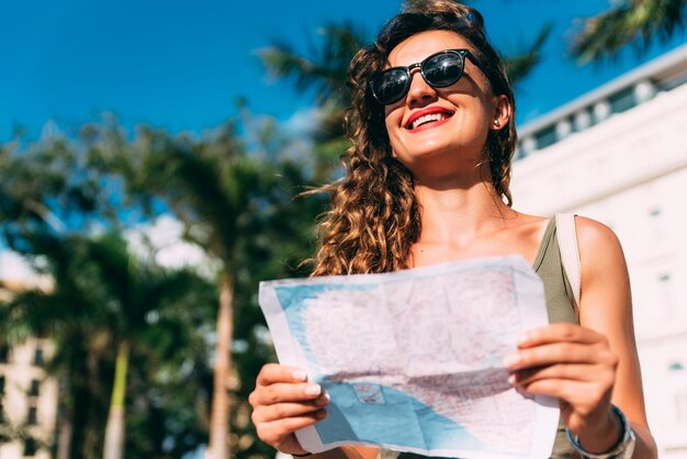
[[[457,48],[472,51],[457,33],[423,32],[391,52],[388,67],[409,66],[437,52]],[[507,99],[492,94],[482,70],[470,59],[464,60],[463,76],[447,88],[432,88],[419,69],[414,69],[407,96],[385,107],[392,152],[416,178],[427,172],[454,172],[455,168],[474,170],[488,131],[508,122],[509,107],[504,110]],[[432,116],[423,119],[429,114]]]

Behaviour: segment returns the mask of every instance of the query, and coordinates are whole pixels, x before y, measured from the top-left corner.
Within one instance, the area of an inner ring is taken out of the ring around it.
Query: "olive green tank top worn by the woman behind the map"
[[[555,231],[555,219],[551,219],[544,231],[537,258],[532,268],[539,275],[544,284],[547,299],[547,312],[549,322],[570,322],[577,324],[577,315],[573,307],[573,292],[565,276],[559,242]],[[413,459],[421,457],[412,452],[398,452],[382,448],[378,459]],[[553,444],[552,459],[581,459],[582,456],[573,449],[565,436],[565,426],[559,422],[555,441]]]

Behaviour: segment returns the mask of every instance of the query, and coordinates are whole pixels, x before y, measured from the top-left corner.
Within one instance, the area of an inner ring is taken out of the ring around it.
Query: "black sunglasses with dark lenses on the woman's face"
[[[382,71],[370,81],[372,96],[382,105],[391,105],[405,98],[410,89],[413,78],[410,72],[419,68],[420,75],[432,88],[449,87],[463,76],[468,57],[482,72],[484,67],[468,49],[446,49],[435,53],[421,63],[412,64],[407,67],[392,67]]]

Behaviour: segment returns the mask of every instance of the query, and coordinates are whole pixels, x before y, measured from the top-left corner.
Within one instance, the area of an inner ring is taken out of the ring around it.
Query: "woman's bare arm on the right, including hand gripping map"
[[[559,398],[563,422],[595,454],[609,451],[621,437],[612,402],[637,434],[633,457],[653,459],[622,248],[608,227],[593,220],[578,217],[577,235],[581,325],[551,324],[528,333],[510,359],[511,382]]]

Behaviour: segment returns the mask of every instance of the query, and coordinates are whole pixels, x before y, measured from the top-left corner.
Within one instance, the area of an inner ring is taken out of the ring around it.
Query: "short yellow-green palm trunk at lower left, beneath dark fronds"
[[[114,365],[114,385],[110,413],[105,425],[105,441],[103,459],[122,459],[124,457],[124,401],[126,398],[126,370],[128,369],[128,343],[122,342],[117,348],[116,362]]]

